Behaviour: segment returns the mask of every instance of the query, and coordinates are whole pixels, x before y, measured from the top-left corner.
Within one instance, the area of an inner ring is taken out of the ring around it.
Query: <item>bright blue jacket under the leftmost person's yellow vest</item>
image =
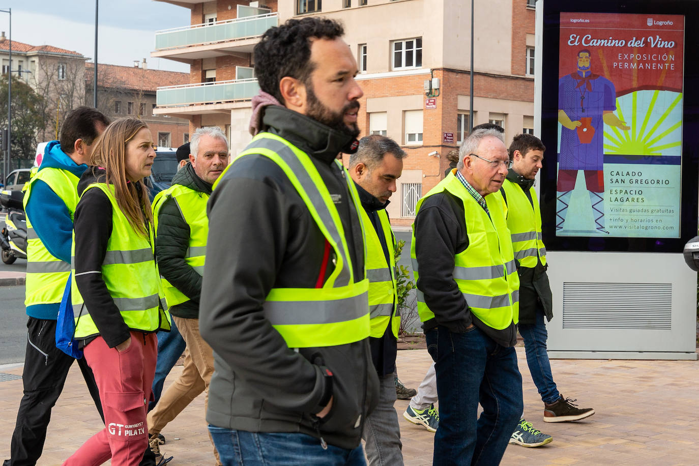
[[[62,168],[80,177],[87,170],[87,165],[78,165],[61,149],[57,140],[48,143],[44,150],[39,171],[45,168]],[[73,239],[73,220],[68,207],[59,196],[38,180],[31,187],[31,196],[27,201],[27,217],[43,245],[52,256],[71,263],[71,241]],[[37,304],[27,307],[27,315],[36,319],[56,320],[61,303]]]

